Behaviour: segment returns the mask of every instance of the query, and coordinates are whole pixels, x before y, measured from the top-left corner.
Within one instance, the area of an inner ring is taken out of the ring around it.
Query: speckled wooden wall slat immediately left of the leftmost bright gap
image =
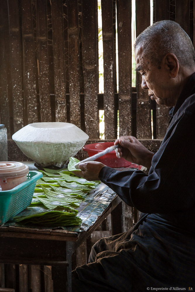
[[[97,1],[82,1],[82,58],[85,94],[85,132],[99,139]]]

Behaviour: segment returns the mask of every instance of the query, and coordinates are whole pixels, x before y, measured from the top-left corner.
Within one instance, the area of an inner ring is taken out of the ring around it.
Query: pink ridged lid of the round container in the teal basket
[[[28,166],[22,162],[0,161],[0,177],[22,176],[28,173]]]

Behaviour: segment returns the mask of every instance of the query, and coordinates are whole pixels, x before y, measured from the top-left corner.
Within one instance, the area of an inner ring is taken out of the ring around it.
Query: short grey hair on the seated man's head
[[[139,45],[146,58],[155,64],[160,64],[167,53],[173,53],[181,65],[194,65],[195,51],[191,39],[175,21],[162,20],[147,27],[137,37],[134,49]]]

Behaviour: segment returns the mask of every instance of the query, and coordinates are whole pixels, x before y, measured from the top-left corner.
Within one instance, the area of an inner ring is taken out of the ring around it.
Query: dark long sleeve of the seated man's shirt
[[[195,204],[194,117],[182,113],[173,120],[153,156],[149,174],[103,167],[100,180],[129,206],[143,213],[172,213]]]

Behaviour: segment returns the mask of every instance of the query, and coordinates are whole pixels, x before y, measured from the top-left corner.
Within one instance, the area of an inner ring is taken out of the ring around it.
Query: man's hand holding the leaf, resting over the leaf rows
[[[99,180],[99,172],[104,166],[106,165],[98,161],[82,162],[79,164],[81,171],[73,171],[73,173],[85,178],[86,180]]]

